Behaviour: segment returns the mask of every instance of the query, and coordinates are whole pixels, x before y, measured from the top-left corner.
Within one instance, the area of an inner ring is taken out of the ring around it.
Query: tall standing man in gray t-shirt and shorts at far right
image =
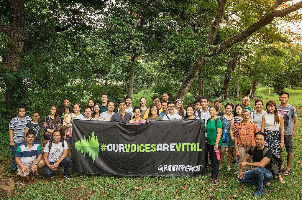
[[[293,160],[294,149],[293,136],[298,127],[298,119],[296,108],[287,103],[289,94],[287,92],[280,92],[279,100],[281,104],[277,106],[277,109],[278,113],[284,118],[284,145],[287,152],[287,167],[284,171],[284,176],[288,176],[291,173],[291,161]],[[280,152],[280,157],[282,158],[282,151]]]

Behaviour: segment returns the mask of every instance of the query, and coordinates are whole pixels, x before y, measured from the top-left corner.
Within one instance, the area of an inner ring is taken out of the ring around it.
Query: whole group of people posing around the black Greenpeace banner
[[[218,171],[223,168],[223,159],[227,152],[226,170],[231,171],[231,162],[238,163],[238,181],[256,183],[253,195],[262,195],[264,186],[278,177],[284,183],[283,176],[291,174],[293,157],[293,136],[297,130],[297,112],[288,104],[289,94],[279,94],[280,105],[269,100],[266,103],[255,100],[255,110],[250,105],[249,97],[243,97],[242,103],[233,105],[226,103],[222,109],[222,101],[217,99],[209,106],[207,97],[200,97],[195,103],[185,107],[183,100],[169,101],[169,94],[153,97],[148,108],[147,99],[140,98],[140,105],[131,107],[132,98],[126,96],[117,104],[108,100],[108,94],[101,94],[101,103],[89,99],[87,106],[80,112],[80,103],[71,104],[71,100],[63,100],[63,107],[50,106],[50,114],[42,123],[40,115],[34,112],[32,118],[26,116],[26,107],[18,107],[18,116],[9,123],[9,137],[12,151],[11,171],[28,179],[30,172],[41,177],[39,170],[53,178],[55,171],[64,166],[64,177],[71,178],[69,167],[72,149],[72,122],[74,119],[94,121],[117,121],[140,124],[158,120],[204,120],[205,164],[206,172],[211,173],[211,183],[217,185]],[[162,99],[162,101],[160,100]],[[71,105],[73,105],[71,107]],[[115,106],[118,107],[114,113]],[[293,125],[294,122],[294,125]],[[44,129],[44,140],[41,143],[41,130]],[[44,147],[44,149],[43,149]],[[271,169],[272,155],[282,158],[282,150],[287,152],[287,166],[280,167],[277,174]],[[43,154],[42,154],[43,149]],[[265,153],[265,154],[264,154]],[[211,165],[211,171],[208,164]]]

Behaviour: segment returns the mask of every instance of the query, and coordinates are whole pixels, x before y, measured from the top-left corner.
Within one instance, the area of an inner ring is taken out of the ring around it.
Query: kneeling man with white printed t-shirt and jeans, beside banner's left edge
[[[45,176],[53,178],[55,171],[64,166],[64,177],[71,179],[69,175],[70,157],[67,157],[68,145],[61,138],[60,130],[54,130],[51,134],[50,141],[45,145],[43,158],[45,162]]]

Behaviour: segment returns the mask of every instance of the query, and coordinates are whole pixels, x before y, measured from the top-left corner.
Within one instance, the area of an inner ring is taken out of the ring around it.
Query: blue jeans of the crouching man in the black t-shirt
[[[243,179],[238,178],[238,181],[240,183],[256,183],[259,190],[264,189],[264,186],[274,178],[273,174],[264,167],[255,167],[255,170],[248,170],[244,174]]]

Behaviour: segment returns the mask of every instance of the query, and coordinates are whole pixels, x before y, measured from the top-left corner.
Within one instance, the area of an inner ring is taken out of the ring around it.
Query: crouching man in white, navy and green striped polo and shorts
[[[15,153],[15,160],[18,164],[18,175],[22,178],[28,180],[29,173],[32,172],[38,178],[39,170],[45,165],[42,159],[42,151],[40,144],[34,142],[35,135],[34,132],[27,132],[26,142],[20,144]]]

